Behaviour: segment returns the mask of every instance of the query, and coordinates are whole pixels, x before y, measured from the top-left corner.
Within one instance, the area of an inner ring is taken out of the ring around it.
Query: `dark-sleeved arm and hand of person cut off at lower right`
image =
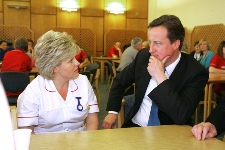
[[[222,101],[206,119],[195,125],[191,132],[198,140],[204,140],[219,135],[225,131],[225,101]]]

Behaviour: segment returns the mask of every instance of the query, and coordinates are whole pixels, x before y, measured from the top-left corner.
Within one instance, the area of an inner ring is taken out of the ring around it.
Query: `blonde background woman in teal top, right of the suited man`
[[[210,60],[214,56],[214,53],[211,51],[211,46],[206,39],[201,39],[199,41],[199,48],[202,51],[203,55],[200,58],[200,63],[205,67],[209,68]]]

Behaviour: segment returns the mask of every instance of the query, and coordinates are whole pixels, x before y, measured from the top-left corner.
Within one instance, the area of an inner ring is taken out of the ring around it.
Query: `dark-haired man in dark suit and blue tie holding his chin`
[[[184,36],[184,27],[174,15],[149,24],[150,49],[140,51],[113,80],[103,128],[116,127],[123,93],[133,83],[135,102],[122,127],[193,125],[191,116],[203,99],[209,75],[193,57],[180,52]]]

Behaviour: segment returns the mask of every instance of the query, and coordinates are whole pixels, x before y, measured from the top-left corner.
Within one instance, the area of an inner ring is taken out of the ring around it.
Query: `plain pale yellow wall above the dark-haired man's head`
[[[225,0],[149,0],[148,5],[148,22],[174,14],[189,31],[198,25],[225,25]]]

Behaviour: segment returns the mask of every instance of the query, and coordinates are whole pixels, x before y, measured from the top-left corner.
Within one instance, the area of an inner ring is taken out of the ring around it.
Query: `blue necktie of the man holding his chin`
[[[150,112],[150,116],[148,119],[148,126],[158,126],[160,125],[159,117],[158,117],[158,107],[152,101],[152,108]]]

